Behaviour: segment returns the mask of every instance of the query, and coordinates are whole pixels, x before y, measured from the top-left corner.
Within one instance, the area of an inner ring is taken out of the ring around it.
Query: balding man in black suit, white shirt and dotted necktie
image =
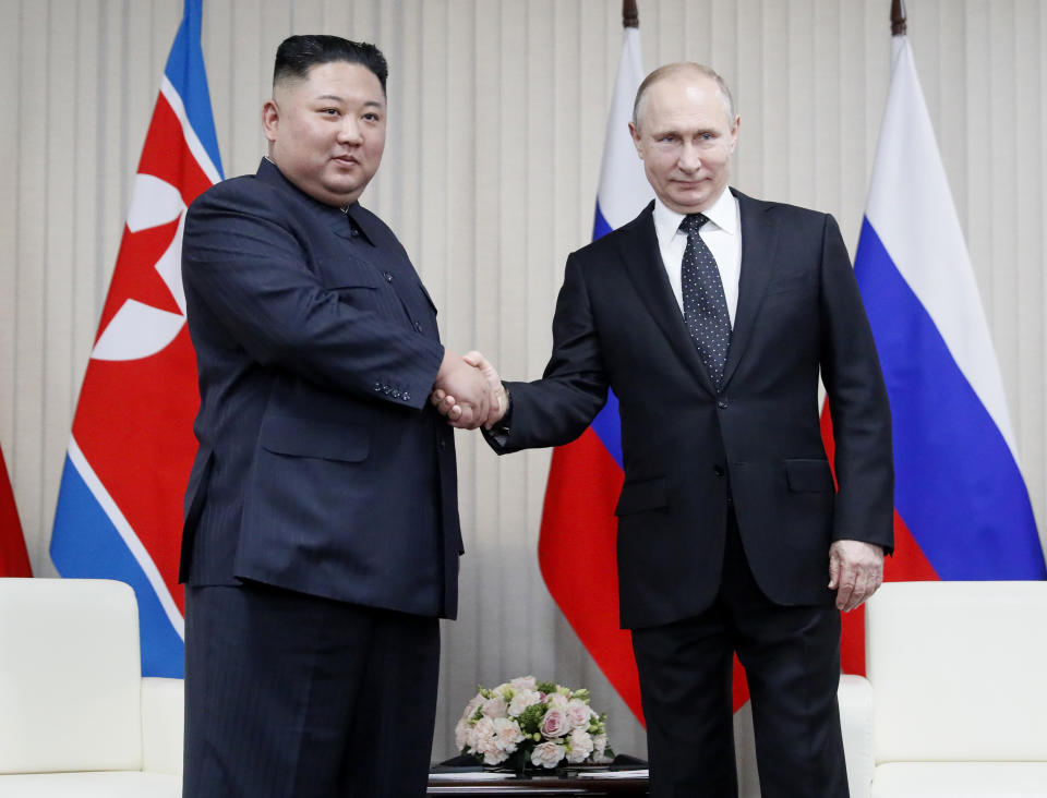
[[[486,435],[498,452],[564,444],[618,398],[618,589],[651,796],[736,795],[737,652],[763,798],[839,798],[838,607],[876,590],[892,546],[890,411],[835,221],[730,190],[738,128],[712,70],[647,77],[630,131],[658,198],[570,255],[544,377],[507,383]]]

